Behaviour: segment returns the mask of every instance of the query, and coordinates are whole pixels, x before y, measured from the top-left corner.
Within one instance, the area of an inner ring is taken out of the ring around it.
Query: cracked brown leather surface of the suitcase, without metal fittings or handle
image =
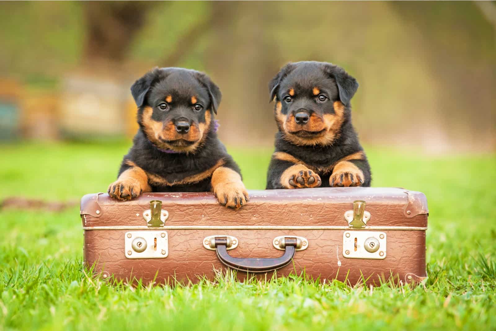
[[[294,192],[294,193],[293,193]],[[83,215],[84,226],[146,225],[142,218],[149,201],[163,201],[169,211],[166,225],[347,225],[344,212],[353,209],[354,200],[365,200],[372,215],[372,226],[427,226],[427,215],[407,218],[408,194],[391,188],[325,188],[302,190],[251,191],[248,205],[229,210],[219,205],[210,193],[149,193],[133,201],[115,201],[101,194],[98,204],[101,217]],[[416,192],[417,193],[417,192]],[[81,210],[84,210],[83,208]],[[86,209],[87,210],[87,209]],[[136,216],[139,214],[139,216]],[[297,251],[293,263],[277,270],[277,276],[300,274],[305,270],[314,279],[339,279],[354,285],[361,275],[368,283],[379,284],[379,277],[420,281],[426,277],[426,237],[422,230],[382,230],[387,236],[386,258],[383,260],[349,259],[343,256],[345,230],[266,230],[266,229],[174,229],[168,233],[169,254],[163,259],[127,259],[124,235],[127,230],[87,230],[84,234],[84,259],[95,272],[104,271],[119,279],[141,278],[145,283],[198,280],[199,276],[214,278],[214,269],[225,270],[216,252],[203,247],[209,235],[232,235],[238,238],[233,257],[270,258],[284,252],[272,246],[281,235],[298,235],[308,239],[309,247]],[[136,230],[133,230],[136,231]],[[144,230],[146,231],[146,230]],[[365,231],[365,230],[357,230]],[[340,265],[340,266],[339,266]],[[270,277],[273,272],[257,274]],[[408,274],[415,275],[408,279]],[[244,272],[238,278],[244,279]]]

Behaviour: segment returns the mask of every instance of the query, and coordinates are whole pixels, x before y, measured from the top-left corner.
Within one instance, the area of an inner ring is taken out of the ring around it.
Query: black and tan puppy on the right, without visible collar
[[[267,189],[370,186],[371,171],[351,123],[358,83],[325,62],[289,63],[269,84],[279,128]]]

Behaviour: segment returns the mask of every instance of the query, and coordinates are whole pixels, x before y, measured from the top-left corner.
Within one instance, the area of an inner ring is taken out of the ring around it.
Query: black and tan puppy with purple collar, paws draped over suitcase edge
[[[111,197],[142,192],[213,191],[232,208],[246,204],[240,169],[217,138],[217,85],[202,72],[155,68],[131,86],[139,129],[124,156]]]

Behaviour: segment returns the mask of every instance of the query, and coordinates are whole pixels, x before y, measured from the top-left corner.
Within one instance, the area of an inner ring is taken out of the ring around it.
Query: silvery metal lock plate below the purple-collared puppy
[[[166,231],[127,231],[124,242],[128,259],[163,259],[169,255]]]

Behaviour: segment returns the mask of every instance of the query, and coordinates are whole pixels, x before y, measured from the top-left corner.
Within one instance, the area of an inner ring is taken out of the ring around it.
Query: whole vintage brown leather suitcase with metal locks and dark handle
[[[81,200],[84,260],[128,282],[213,279],[215,270],[300,275],[351,285],[420,282],[426,274],[427,200],[400,188],[250,191],[240,210],[211,193],[144,193]]]

